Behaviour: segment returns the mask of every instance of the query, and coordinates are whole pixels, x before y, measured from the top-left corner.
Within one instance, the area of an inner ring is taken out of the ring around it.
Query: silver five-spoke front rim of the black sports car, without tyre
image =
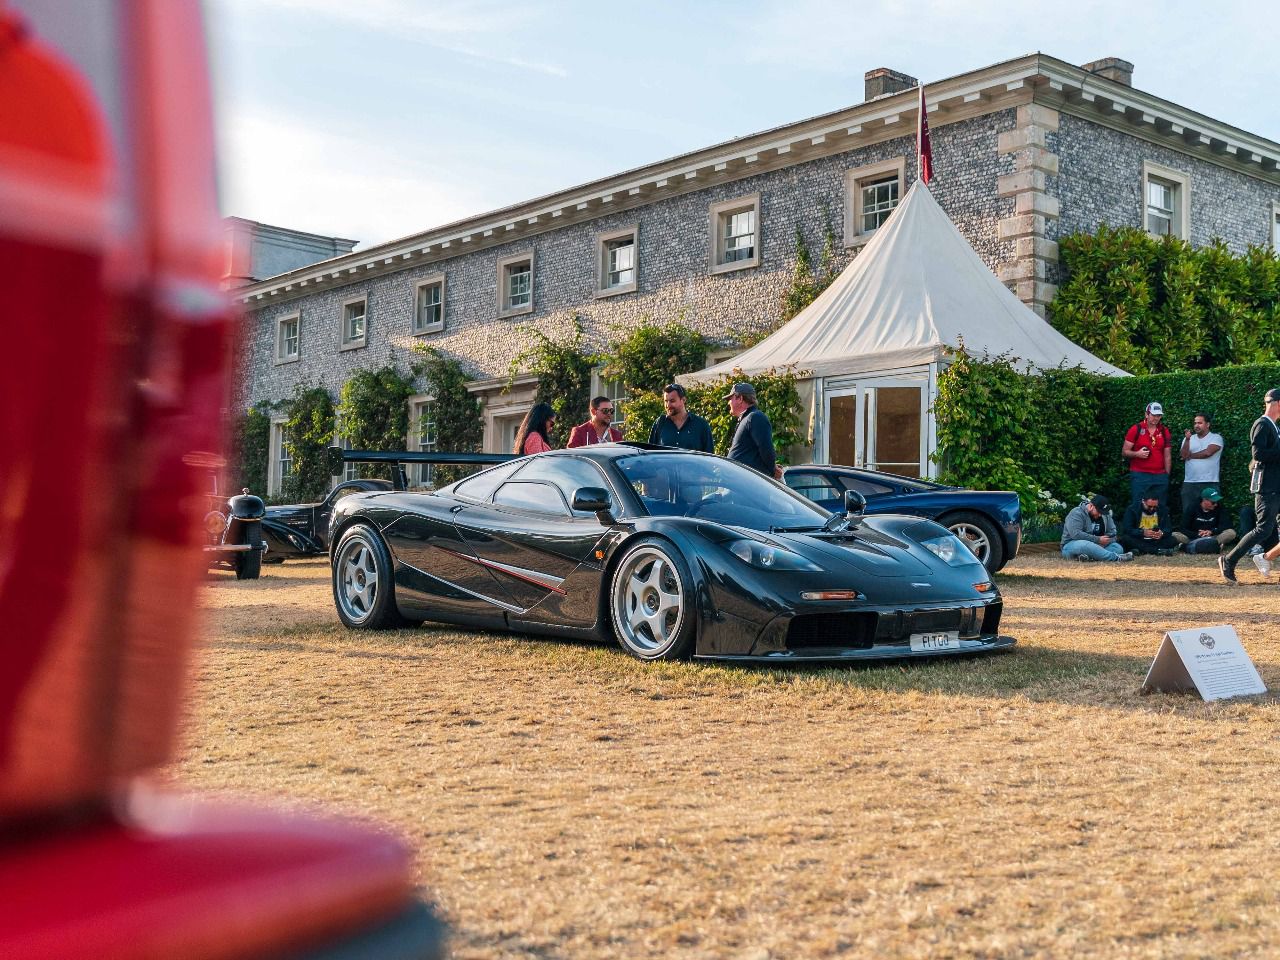
[[[666,653],[681,636],[687,612],[685,585],[660,547],[635,548],[613,577],[613,626],[640,657]]]

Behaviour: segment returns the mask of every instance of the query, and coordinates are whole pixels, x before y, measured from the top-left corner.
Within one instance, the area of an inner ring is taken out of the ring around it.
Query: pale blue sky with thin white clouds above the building
[[[1042,51],[1280,140],[1265,5],[205,0],[223,212],[357,250]],[[1262,18],[1260,20],[1260,17]]]

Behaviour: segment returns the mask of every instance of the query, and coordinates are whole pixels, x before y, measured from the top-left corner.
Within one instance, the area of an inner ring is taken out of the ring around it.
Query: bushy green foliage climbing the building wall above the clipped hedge
[[[1280,355],[1280,260],[1221,241],[1194,248],[1135,228],[1060,242],[1055,328],[1133,374],[1267,362]]]

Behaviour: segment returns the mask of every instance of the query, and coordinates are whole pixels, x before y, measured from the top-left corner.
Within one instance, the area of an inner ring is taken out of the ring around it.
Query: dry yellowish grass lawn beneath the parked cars
[[[175,773],[398,828],[456,957],[1276,956],[1280,701],[1138,692],[1212,623],[1280,687],[1280,585],[1240,577],[1024,556],[1011,654],[765,671],[216,575]]]

